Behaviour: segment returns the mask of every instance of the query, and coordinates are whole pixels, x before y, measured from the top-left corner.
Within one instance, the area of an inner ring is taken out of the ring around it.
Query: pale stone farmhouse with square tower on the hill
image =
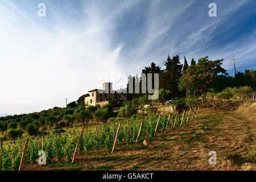
[[[89,91],[89,96],[86,96],[85,106],[103,106],[108,104],[110,100],[113,101],[126,101],[125,94],[117,93],[117,91],[112,89],[112,82],[105,82],[103,84],[103,89],[94,89]]]

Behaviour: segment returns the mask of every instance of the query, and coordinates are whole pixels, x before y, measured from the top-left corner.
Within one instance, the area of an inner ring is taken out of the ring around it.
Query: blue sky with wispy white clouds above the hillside
[[[39,16],[39,3],[46,16]],[[217,16],[210,17],[209,3]],[[0,116],[64,107],[170,56],[256,69],[254,0],[1,0]]]

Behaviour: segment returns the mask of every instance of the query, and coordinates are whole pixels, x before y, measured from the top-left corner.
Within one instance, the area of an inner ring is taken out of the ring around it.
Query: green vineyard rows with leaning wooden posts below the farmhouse
[[[51,133],[43,138],[28,137],[24,162],[38,163],[38,152],[46,152],[46,162],[72,163],[73,154],[88,155],[90,151],[113,152],[117,145],[142,143],[144,139],[154,140],[157,133],[165,133],[175,127],[183,127],[196,118],[198,109],[190,109],[187,113],[170,115],[134,115],[129,121],[119,119],[118,122],[103,123],[88,129],[73,129],[65,133]],[[189,115],[190,114],[190,115]],[[15,144],[7,143],[1,150],[1,170],[16,171],[19,169],[26,138],[16,140]],[[42,146],[43,143],[43,146]],[[77,147],[76,147],[77,146]]]

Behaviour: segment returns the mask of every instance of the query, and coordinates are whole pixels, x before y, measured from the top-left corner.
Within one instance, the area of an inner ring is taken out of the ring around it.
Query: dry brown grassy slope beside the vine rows
[[[256,103],[237,110],[204,107],[192,122],[158,132],[148,146],[118,144],[113,154],[80,155],[75,164],[26,164],[24,170],[255,170]],[[209,164],[216,151],[217,164]]]

